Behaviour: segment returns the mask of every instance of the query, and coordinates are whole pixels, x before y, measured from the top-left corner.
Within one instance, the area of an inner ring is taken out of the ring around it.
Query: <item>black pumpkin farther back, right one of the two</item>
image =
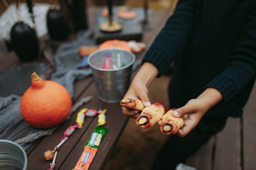
[[[68,22],[62,13],[58,9],[49,9],[46,15],[47,29],[49,36],[53,40],[67,40],[70,29]]]

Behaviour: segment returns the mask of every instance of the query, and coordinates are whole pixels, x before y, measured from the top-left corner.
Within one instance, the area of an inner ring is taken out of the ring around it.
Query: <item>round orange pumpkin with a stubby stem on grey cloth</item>
[[[72,108],[68,90],[54,81],[42,80],[36,72],[20,101],[20,113],[34,128],[51,128],[67,118]]]

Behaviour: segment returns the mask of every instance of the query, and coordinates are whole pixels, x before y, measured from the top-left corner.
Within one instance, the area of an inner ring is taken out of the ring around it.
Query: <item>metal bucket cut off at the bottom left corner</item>
[[[0,139],[0,169],[26,170],[27,155],[20,145]]]

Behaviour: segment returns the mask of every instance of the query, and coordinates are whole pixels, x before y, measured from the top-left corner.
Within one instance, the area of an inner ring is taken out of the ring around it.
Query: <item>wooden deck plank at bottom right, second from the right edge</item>
[[[226,127],[216,136],[214,170],[241,169],[240,118],[229,117]]]

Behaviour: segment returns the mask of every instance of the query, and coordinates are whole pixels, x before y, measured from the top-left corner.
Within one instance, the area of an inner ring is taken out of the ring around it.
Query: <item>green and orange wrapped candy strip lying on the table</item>
[[[97,151],[99,148],[99,144],[101,140],[103,139],[106,131],[108,131],[108,128],[103,128],[97,126],[90,139],[86,143],[86,147],[84,148],[80,158],[78,159],[76,166],[73,168],[73,170],[87,170],[89,169]]]

